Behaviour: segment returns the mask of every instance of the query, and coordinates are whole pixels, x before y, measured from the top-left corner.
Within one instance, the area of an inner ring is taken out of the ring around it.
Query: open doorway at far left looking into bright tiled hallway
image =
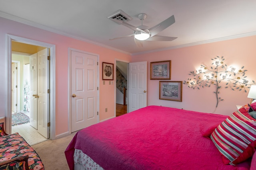
[[[19,133],[30,145],[34,145],[49,138],[48,129],[44,129],[41,123],[44,121],[42,120],[44,117],[42,110],[45,110],[44,114],[49,114],[49,100],[44,96],[48,96],[48,94],[42,93],[42,91],[47,92],[47,88],[49,88],[47,82],[50,77],[47,74],[48,71],[44,71],[48,70],[48,48],[18,42],[12,42],[12,45],[13,49],[17,49],[16,46],[21,46],[23,51],[30,49],[34,53],[33,55],[26,53],[21,55],[20,50],[12,53],[12,133]],[[18,52],[20,54],[15,54]],[[46,57],[44,60],[46,62],[42,60],[42,57]],[[22,64],[17,66],[17,63]],[[46,82],[45,85],[43,82]],[[38,86],[39,84],[41,86]],[[42,87],[46,89],[42,89]],[[35,97],[34,94],[36,94]],[[38,107],[39,104],[41,106]],[[41,110],[39,110],[40,108]],[[47,122],[49,122],[48,117],[46,116]]]

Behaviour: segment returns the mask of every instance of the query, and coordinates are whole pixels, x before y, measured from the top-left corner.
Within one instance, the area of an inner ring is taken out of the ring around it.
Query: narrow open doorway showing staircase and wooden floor
[[[116,60],[116,117],[126,114],[128,105],[128,66],[127,61]]]

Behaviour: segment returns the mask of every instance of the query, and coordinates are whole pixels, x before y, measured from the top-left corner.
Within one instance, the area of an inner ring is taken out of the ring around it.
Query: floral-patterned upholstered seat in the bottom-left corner
[[[30,170],[44,170],[44,165],[36,151],[18,133],[0,137],[0,162],[26,155]]]

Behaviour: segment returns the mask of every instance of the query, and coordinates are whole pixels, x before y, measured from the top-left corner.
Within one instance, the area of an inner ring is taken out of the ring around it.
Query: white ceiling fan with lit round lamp
[[[138,15],[138,18],[141,20],[141,25],[138,27],[130,25],[129,23],[122,21],[122,20],[110,19],[110,20],[112,20],[118,24],[124,25],[134,31],[134,33],[131,35],[116,37],[116,38],[113,38],[110,40],[134,36],[134,41],[135,41],[136,45],[138,47],[142,47],[142,41],[144,41],[144,40],[146,40],[146,41],[172,41],[177,38],[177,37],[166,37],[166,36],[156,35],[156,34],[160,33],[161,31],[163,31],[164,29],[166,29],[167,27],[169,27],[170,25],[172,25],[173,23],[175,23],[174,15],[170,16],[166,20],[162,21],[161,23],[159,23],[151,28],[149,28],[146,25],[143,25],[143,20],[146,17],[147,17],[147,15],[143,14],[143,13]]]

